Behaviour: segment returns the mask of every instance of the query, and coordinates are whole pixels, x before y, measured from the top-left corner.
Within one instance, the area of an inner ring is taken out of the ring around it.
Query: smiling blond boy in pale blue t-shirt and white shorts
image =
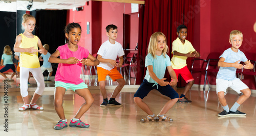
[[[218,114],[219,117],[225,116],[246,116],[246,113],[238,111],[238,107],[247,100],[251,95],[251,90],[239,79],[236,77],[237,69],[252,69],[253,65],[250,61],[247,60],[244,53],[239,50],[239,47],[242,45],[243,34],[238,30],[231,31],[229,35],[229,43],[232,45],[230,48],[226,49],[223,54],[220,56],[218,66],[220,67],[216,79],[216,91],[218,99],[224,109],[221,113]],[[244,62],[243,66],[240,64],[240,61]],[[226,89],[230,87],[238,93],[243,93],[242,96],[233,104],[230,108],[227,105],[225,95]]]

